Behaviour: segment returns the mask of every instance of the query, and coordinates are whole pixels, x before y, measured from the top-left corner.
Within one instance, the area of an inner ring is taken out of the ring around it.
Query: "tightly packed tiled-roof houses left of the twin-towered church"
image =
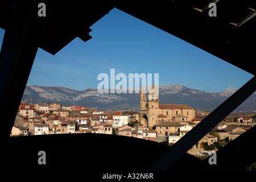
[[[113,134],[113,128],[139,120],[135,111],[98,111],[83,106],[20,102],[11,135]]]

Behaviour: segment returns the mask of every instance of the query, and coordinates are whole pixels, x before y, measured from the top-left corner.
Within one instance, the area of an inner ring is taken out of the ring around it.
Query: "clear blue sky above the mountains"
[[[159,73],[159,85],[181,84],[206,92],[221,92],[228,86],[238,89],[253,77],[118,9],[90,29],[92,39],[76,38],[54,56],[39,48],[27,85],[97,88],[101,82],[97,76],[110,76],[111,68],[127,76]],[[1,44],[3,35],[0,28]]]

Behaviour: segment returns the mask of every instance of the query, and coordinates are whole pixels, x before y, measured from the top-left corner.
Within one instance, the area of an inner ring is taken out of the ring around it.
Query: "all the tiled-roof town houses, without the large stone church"
[[[139,119],[139,113],[135,111],[114,111],[112,113],[83,106],[61,106],[57,102],[53,104],[20,102],[11,135],[98,133],[142,138],[155,142],[167,140],[168,143],[175,143],[202,121],[194,117],[191,121],[159,122],[152,128],[144,127],[139,122],[134,126],[129,126],[129,123],[139,121]],[[247,121],[249,120],[246,118]],[[248,129],[248,127],[223,125],[216,126],[214,130],[221,139],[228,137],[230,140]],[[199,141],[199,146],[203,142],[208,142],[210,145],[216,141],[217,137],[207,134]]]

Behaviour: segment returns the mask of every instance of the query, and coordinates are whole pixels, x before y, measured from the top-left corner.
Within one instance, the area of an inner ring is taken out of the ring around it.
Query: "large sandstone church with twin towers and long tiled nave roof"
[[[187,105],[159,104],[159,89],[152,86],[150,92],[140,91],[140,119],[144,127],[152,127],[164,121],[191,121],[195,117],[195,109]]]

